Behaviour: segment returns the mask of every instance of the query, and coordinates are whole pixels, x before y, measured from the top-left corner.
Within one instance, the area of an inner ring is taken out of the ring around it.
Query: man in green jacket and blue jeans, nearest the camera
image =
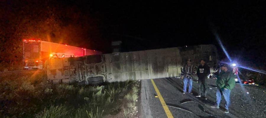
[[[221,72],[216,81],[217,91],[216,91],[216,105],[211,106],[212,108],[219,109],[219,104],[221,101],[221,97],[223,95],[224,99],[226,100],[225,105],[225,113],[229,113],[229,106],[230,106],[230,92],[234,88],[235,82],[235,75],[233,72],[229,70],[229,66],[227,64],[223,64],[221,66]]]

